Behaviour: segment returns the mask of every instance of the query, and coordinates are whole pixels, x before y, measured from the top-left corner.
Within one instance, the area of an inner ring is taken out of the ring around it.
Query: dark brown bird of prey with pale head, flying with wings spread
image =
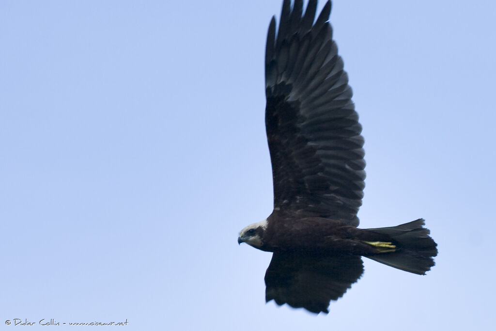
[[[436,243],[424,220],[360,229],[364,138],[343,60],[332,40],[327,1],[284,0],[270,21],[265,50],[265,126],[274,210],[245,227],[238,243],[273,252],[265,299],[328,313],[363,273],[362,256],[425,274]]]

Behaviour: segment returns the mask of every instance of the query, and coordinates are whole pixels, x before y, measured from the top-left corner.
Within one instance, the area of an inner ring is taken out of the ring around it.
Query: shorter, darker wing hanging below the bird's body
[[[360,256],[274,253],[265,272],[265,300],[327,314],[330,300],[342,297],[363,272]]]

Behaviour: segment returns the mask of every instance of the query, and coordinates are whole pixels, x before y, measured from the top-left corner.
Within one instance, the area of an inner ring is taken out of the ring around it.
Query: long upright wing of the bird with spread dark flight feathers
[[[316,0],[283,3],[265,54],[265,125],[274,210],[340,219],[358,226],[365,161],[358,114],[327,22],[328,1],[313,24]]]

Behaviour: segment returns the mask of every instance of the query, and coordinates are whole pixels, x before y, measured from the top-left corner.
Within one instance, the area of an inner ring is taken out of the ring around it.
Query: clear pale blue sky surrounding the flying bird
[[[334,1],[366,140],[361,227],[423,217],[439,255],[427,276],[364,259],[319,316],[265,304],[271,254],[237,243],[272,210],[280,9],[0,1],[0,329],[494,328],[496,2]]]

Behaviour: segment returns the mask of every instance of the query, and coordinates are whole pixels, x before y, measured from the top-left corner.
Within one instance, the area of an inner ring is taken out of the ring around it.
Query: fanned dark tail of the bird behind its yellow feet
[[[424,224],[424,219],[420,218],[398,226],[367,229],[389,236],[396,246],[393,252],[388,250],[366,257],[408,272],[426,274],[435,265],[433,257],[437,255],[437,244]]]

